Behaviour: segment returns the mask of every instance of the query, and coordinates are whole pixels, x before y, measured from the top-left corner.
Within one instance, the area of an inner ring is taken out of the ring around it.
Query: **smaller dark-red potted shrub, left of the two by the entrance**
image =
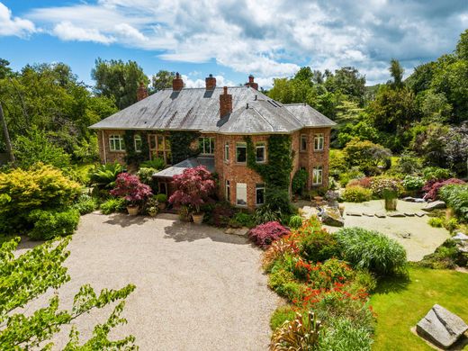
[[[128,173],[121,173],[117,176],[115,188],[111,194],[125,199],[130,216],[136,216],[139,206],[152,195],[151,188],[147,184],[141,183],[137,175]]]

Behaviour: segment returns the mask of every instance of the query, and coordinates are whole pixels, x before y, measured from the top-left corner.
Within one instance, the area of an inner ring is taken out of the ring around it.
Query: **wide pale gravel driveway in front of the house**
[[[72,279],[59,290],[61,301],[69,307],[85,283],[96,290],[135,284],[123,313],[128,324],[115,335],[133,334],[140,350],[267,348],[278,298],[266,286],[261,251],[246,238],[172,215],[91,213],[69,249]],[[108,314],[83,316],[76,326],[87,337]]]

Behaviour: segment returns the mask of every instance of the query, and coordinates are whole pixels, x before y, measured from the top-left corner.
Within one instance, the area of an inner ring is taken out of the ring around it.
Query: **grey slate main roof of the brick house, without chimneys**
[[[220,94],[188,88],[165,89],[92,125],[97,130],[199,130],[222,134],[291,133],[304,127],[331,127],[329,120],[311,106],[282,104],[249,87],[228,88],[232,113],[220,119]]]

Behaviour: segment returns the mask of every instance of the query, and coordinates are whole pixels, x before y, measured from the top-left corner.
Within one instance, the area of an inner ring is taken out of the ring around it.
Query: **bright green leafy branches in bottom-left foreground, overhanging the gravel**
[[[20,241],[15,238],[0,247],[0,348],[31,349],[43,347],[50,349],[53,344],[49,340],[63,326],[70,325],[81,315],[116,302],[109,318],[102,324],[94,326],[93,335],[84,343],[79,341],[79,333],[72,327],[66,350],[102,350],[102,349],[136,349],[135,338],[128,336],[121,339],[109,338],[111,330],[126,323],[121,318],[125,299],[135,290],[128,284],[119,290],[104,289],[96,294],[94,289],[83,285],[76,293],[71,310],[59,309],[58,295],[53,295],[47,307],[23,314],[23,309],[29,302],[39,298],[49,288],[58,289],[70,280],[67,268],[63,266],[69,256],[66,251],[71,238],[61,238],[48,241],[40,246],[26,251],[21,256],[14,251]]]

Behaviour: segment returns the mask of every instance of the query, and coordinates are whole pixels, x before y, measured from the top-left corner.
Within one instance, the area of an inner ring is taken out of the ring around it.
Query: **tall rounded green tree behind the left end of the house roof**
[[[98,95],[111,97],[119,109],[124,109],[137,102],[139,83],[148,85],[149,79],[137,62],[121,59],[110,61],[97,58],[91,76],[96,84],[94,90]]]

